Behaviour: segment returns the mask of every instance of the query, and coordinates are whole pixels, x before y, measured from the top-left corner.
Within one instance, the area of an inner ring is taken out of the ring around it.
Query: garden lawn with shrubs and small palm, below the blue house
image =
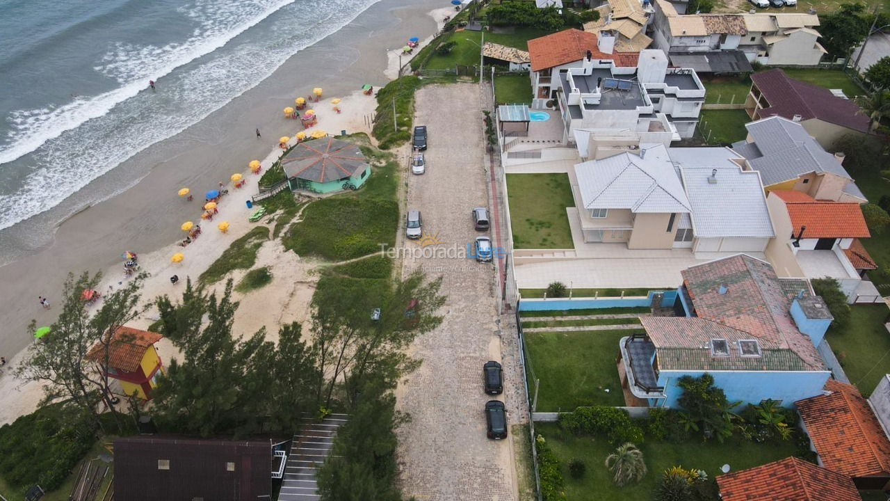
[[[661,480],[661,473],[677,464],[708,472],[713,478],[720,474],[720,467],[729,464],[733,472],[777,461],[795,452],[793,440],[772,443],[755,443],[743,439],[716,440],[701,443],[691,440],[681,444],[648,440],[637,444],[649,472],[635,485],[615,487],[611,472],[603,462],[614,447],[606,439],[564,436],[556,423],[538,423],[535,431],[543,435],[547,446],[560,460],[565,493],[569,501],[644,501],[652,499]],[[579,459],[587,465],[585,476],[571,478],[569,463]]]

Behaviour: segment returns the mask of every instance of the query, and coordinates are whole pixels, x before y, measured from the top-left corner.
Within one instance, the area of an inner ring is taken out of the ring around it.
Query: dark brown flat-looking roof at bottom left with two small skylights
[[[115,499],[271,498],[271,442],[131,437],[114,442]],[[159,470],[158,461],[169,461]],[[234,471],[227,469],[234,463]]]

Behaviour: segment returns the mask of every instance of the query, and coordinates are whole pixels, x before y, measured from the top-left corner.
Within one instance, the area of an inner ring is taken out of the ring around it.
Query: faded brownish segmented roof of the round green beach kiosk
[[[365,170],[368,160],[355,144],[325,137],[294,146],[281,160],[281,167],[287,177],[329,183]]]

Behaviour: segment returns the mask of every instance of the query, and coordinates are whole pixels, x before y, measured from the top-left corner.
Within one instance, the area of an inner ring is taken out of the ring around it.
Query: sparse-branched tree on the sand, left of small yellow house
[[[95,291],[101,274],[83,273],[77,278],[70,274],[62,288],[61,312],[50,325],[50,332],[28,347],[15,375],[21,381],[37,382],[44,390],[41,405],[67,402],[83,415],[93,418],[97,429],[104,429],[101,407],[108,409],[117,420],[117,428],[124,425],[111,401],[109,374],[95,370],[86,359],[93,345],[101,345],[95,364],[107,366],[110,346],[117,327],[125,325],[142,313],[139,306],[144,276],[138,275],[117,291],[110,292],[101,306],[90,311],[82,299],[84,291]],[[36,331],[34,320],[28,325],[28,336]]]

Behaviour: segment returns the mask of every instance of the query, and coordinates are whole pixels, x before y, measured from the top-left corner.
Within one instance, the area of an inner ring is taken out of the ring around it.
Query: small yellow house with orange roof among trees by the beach
[[[132,327],[117,327],[109,342],[96,342],[86,359],[99,370],[117,379],[127,395],[135,394],[144,400],[151,398],[151,390],[158,386],[158,374],[164,364],[158,357],[155,343],[163,336]]]

